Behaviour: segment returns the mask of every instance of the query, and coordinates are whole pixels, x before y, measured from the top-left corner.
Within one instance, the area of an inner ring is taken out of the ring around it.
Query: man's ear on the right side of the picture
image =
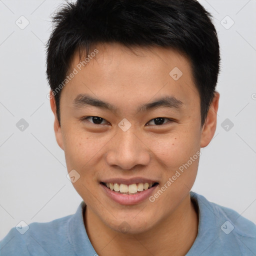
[[[215,91],[214,98],[210,104],[205,123],[202,127],[200,146],[205,147],[212,139],[217,124],[217,110],[218,110],[219,93]]]

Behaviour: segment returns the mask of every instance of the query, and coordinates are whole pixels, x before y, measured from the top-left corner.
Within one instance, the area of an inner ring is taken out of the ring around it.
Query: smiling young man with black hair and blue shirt
[[[216,128],[219,45],[195,0],[78,0],[47,44],[54,131],[82,197],[1,255],[255,255],[256,227],[190,192]]]

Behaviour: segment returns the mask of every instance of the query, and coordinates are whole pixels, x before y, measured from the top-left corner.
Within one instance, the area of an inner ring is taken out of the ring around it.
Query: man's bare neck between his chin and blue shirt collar
[[[170,216],[139,234],[124,234],[107,227],[86,206],[85,228],[92,246],[100,256],[108,255],[185,255],[198,229],[198,216],[190,195]]]

